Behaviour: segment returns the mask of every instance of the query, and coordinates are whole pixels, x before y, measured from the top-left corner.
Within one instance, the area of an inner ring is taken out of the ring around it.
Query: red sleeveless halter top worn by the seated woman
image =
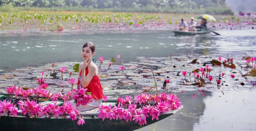
[[[85,76],[87,76],[87,74],[89,73],[88,68],[85,69]],[[77,89],[79,89],[80,87],[82,88],[82,83],[81,81],[81,74],[82,74],[82,70],[79,74],[78,77],[78,82],[77,82]],[[100,84],[100,80],[98,76],[93,76],[91,82],[89,83],[89,85],[85,88],[88,89],[86,90],[86,92],[91,92],[92,93],[92,97],[96,100],[98,99],[102,99],[103,96],[103,91],[102,91],[102,86]]]

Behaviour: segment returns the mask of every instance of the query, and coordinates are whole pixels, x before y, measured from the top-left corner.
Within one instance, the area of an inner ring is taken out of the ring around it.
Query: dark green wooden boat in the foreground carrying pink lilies
[[[8,99],[9,94],[0,94],[0,100]],[[46,105],[53,103],[52,101],[42,102],[41,105]],[[63,102],[58,101],[57,105],[62,105]],[[112,106],[117,105],[117,101],[107,101],[103,102],[103,105]],[[15,130],[15,131],[132,131],[136,130],[150,124],[153,124],[157,121],[163,120],[164,118],[175,114],[177,111],[182,109],[181,106],[178,110],[172,110],[170,112],[166,112],[165,114],[160,114],[159,120],[154,119],[152,121],[152,117],[147,117],[147,124],[140,126],[138,123],[134,121],[126,120],[109,120],[105,119],[102,121],[102,118],[98,118],[98,109],[92,109],[88,111],[80,112],[80,115],[84,116],[85,124],[78,125],[77,120],[72,121],[68,117],[27,117],[23,116],[23,114],[18,114],[18,116],[13,117],[9,115],[1,115],[0,118],[0,130]],[[68,114],[67,114],[68,115]],[[63,114],[63,116],[65,116]]]

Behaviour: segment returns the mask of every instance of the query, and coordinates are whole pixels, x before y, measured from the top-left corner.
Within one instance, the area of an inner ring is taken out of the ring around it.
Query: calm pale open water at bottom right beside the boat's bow
[[[255,90],[206,92],[205,96],[193,92],[178,94],[184,108],[157,122],[155,130],[255,130]],[[151,131],[155,124],[136,131]]]

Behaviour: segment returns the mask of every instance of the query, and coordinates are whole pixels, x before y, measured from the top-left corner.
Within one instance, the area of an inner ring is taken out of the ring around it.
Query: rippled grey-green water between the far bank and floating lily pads
[[[116,58],[124,62],[135,57],[166,57],[169,54],[209,54],[255,49],[256,30],[218,30],[220,36],[174,36],[171,31],[134,34],[94,34],[60,36],[24,36],[0,38],[0,69],[14,70],[26,66],[63,61],[81,61],[86,41],[96,45],[94,58]]]

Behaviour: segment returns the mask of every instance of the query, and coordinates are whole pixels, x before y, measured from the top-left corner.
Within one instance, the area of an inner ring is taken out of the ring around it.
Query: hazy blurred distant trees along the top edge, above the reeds
[[[225,0],[0,0],[0,5],[12,3],[16,7],[60,7],[91,6],[93,8],[136,8],[146,7],[186,7],[205,8],[225,4]]]

